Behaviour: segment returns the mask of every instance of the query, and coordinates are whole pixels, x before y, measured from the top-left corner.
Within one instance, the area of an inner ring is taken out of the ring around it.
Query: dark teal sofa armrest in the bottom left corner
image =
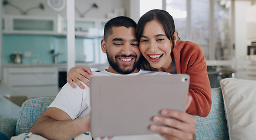
[[[0,118],[0,139],[10,139],[15,136],[17,118]],[[2,137],[1,137],[2,136]]]

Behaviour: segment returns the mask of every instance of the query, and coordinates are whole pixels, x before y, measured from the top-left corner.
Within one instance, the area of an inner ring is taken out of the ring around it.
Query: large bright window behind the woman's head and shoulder
[[[140,0],[140,16],[150,9],[166,9],[173,16],[180,40],[197,43],[206,60],[228,60],[231,57],[231,2],[159,0],[150,3]]]

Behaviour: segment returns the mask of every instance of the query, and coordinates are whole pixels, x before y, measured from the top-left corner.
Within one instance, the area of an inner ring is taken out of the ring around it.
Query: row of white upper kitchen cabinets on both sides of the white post
[[[75,35],[103,37],[107,19],[75,19]],[[48,34],[65,36],[66,20],[61,16],[3,15],[2,30],[6,34]]]

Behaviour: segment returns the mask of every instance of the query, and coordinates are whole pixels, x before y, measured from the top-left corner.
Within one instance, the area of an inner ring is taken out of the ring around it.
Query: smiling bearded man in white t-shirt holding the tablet
[[[140,51],[135,30],[136,23],[129,17],[115,17],[106,23],[101,47],[103,53],[107,54],[109,68],[95,72],[93,76],[168,75],[166,72],[137,69]],[[190,102],[191,97],[188,99]],[[89,87],[73,89],[66,83],[30,132],[47,139],[72,139],[90,131],[89,104]],[[113,139],[163,139],[163,136],[167,139],[193,139],[196,125],[194,117],[173,110],[161,110],[161,114],[165,117],[154,116],[153,121],[164,125],[150,125],[150,129],[161,132],[160,135],[114,136]]]

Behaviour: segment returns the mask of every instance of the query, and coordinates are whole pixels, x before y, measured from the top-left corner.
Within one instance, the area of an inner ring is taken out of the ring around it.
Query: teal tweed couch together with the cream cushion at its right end
[[[255,139],[256,81],[225,78],[221,88],[212,88],[210,114],[197,119],[196,139]],[[29,99],[22,104],[19,117],[0,118],[0,139],[28,132],[53,97]]]

